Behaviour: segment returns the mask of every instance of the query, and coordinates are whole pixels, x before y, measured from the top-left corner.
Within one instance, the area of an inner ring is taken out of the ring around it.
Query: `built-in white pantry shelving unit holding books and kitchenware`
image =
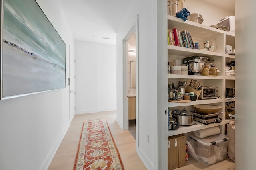
[[[168,83],[174,82],[174,85],[178,85],[178,81],[187,80],[188,84],[191,79],[196,79],[201,82],[202,86],[217,86],[218,87],[218,96],[217,99],[204,99],[204,100],[196,100],[188,103],[176,103],[176,102],[168,102],[168,107],[172,110],[174,109],[183,109],[187,110],[195,110],[193,105],[196,104],[212,104],[222,106],[222,122],[220,123],[212,123],[205,125],[198,121],[194,121],[196,125],[191,126],[180,126],[177,130],[168,130],[168,136],[177,135],[181,133],[187,133],[190,131],[196,131],[199,129],[205,129],[208,127],[219,126],[222,130],[222,133],[225,132],[225,124],[229,123],[230,119],[225,119],[225,91],[230,84],[234,85],[235,77],[227,77],[225,76],[225,66],[227,61],[235,60],[234,55],[225,54],[225,45],[231,45],[233,48],[235,47],[235,35],[226,31],[222,31],[220,29],[208,27],[206,25],[194,23],[192,21],[183,21],[180,18],[176,18],[174,16],[168,16],[168,29],[177,28],[179,31],[186,30],[188,31],[192,39],[195,42],[198,42],[200,45],[200,49],[204,47],[204,41],[210,41],[210,45],[214,45],[214,52],[205,51],[205,50],[197,50],[190,49],[185,47],[178,47],[174,45],[167,45],[168,49],[168,62],[172,62],[173,60],[183,60],[186,57],[190,56],[202,56],[208,57],[214,61],[215,67],[220,71],[218,76],[202,76],[202,75],[177,75],[177,74],[168,74]],[[234,100],[234,99],[232,99]]]

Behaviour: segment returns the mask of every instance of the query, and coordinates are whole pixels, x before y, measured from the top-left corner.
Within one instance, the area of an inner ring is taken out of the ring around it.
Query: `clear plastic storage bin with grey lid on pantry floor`
[[[199,138],[190,132],[186,134],[188,154],[205,166],[226,159],[229,137],[223,134]]]

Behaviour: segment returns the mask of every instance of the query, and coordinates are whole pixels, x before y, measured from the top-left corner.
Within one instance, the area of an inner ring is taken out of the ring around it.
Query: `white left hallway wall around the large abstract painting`
[[[74,49],[74,39],[58,1],[37,2],[67,47]],[[68,58],[67,54],[66,77]],[[47,169],[69,125],[67,78],[64,89],[0,101],[0,169]]]

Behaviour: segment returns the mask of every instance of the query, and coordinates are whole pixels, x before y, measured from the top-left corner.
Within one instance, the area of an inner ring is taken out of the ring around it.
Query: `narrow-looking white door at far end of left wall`
[[[75,55],[74,49],[68,47],[69,55],[69,120],[71,121],[75,115]]]

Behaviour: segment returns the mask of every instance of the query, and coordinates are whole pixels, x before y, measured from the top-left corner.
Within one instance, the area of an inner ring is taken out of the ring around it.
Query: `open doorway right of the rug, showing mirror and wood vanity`
[[[138,86],[138,54],[136,24],[123,39],[124,59],[123,59],[123,129],[128,129],[136,139],[138,132],[138,108],[136,107],[138,96],[136,87]]]

